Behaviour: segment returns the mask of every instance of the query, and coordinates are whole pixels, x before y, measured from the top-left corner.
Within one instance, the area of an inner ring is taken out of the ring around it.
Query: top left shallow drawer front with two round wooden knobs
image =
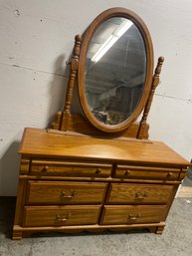
[[[69,177],[107,177],[110,176],[110,164],[65,162],[51,160],[31,161],[31,174],[40,175],[63,175]]]

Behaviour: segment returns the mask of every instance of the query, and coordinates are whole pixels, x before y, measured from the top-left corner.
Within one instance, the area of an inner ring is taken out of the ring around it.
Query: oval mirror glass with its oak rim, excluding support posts
[[[132,12],[101,13],[83,37],[79,95],[89,121],[103,131],[128,128],[146,104],[153,51],[143,22]]]

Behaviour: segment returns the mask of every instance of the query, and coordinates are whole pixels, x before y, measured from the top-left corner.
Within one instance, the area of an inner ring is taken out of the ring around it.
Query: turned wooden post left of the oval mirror
[[[79,67],[81,44],[82,44],[82,38],[80,35],[77,35],[75,37],[75,47],[73,51],[72,60],[70,62],[70,65],[71,65],[70,79],[68,81],[66,103],[65,103],[64,112],[62,114],[60,130],[68,129],[69,119],[71,115],[72,96],[73,96],[74,85],[75,85],[76,76],[77,76],[78,67]]]

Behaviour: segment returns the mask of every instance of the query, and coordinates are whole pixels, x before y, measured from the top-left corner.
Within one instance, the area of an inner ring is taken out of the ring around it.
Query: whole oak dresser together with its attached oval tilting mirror
[[[153,75],[147,27],[124,8],[102,12],[76,36],[64,111],[52,128],[23,134],[13,239],[48,231],[162,233],[189,165],[148,139],[163,61]],[[75,86],[81,115],[72,113]]]

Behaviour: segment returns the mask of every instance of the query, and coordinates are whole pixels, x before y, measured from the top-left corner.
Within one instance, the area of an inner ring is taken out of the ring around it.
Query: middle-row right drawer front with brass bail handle
[[[173,190],[172,185],[111,183],[107,203],[115,204],[166,204]]]

